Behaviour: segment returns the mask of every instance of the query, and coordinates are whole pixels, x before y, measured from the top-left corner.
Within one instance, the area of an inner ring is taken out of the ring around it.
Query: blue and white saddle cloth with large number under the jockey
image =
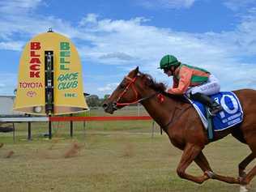
[[[233,92],[219,92],[212,95],[211,100],[215,100],[224,108],[223,111],[217,113],[216,116],[212,118],[213,130],[225,130],[243,121],[244,113],[242,111],[240,101]],[[198,112],[198,115],[203,122],[203,126],[207,129],[207,109],[203,104],[196,100],[190,100],[190,103]]]

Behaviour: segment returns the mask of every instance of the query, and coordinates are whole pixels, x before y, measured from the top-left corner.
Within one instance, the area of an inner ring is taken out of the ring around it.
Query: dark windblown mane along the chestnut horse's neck
[[[178,95],[173,95],[169,94],[166,92],[167,85],[164,83],[157,83],[155,79],[151,77],[151,75],[148,74],[143,74],[139,72],[139,75],[142,76],[142,78],[147,79],[147,86],[150,87],[151,89],[155,90],[156,92],[160,92],[164,96],[168,96],[169,98],[172,98],[173,100],[189,103],[189,101],[185,98],[185,96],[178,96]]]

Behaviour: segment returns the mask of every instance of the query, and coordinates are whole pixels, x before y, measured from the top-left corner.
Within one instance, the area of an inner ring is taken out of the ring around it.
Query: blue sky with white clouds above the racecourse
[[[171,86],[165,54],[209,70],[221,91],[256,89],[256,0],[0,0],[0,15],[0,95],[14,94],[23,46],[49,28],[75,44],[93,95],[136,66]]]

